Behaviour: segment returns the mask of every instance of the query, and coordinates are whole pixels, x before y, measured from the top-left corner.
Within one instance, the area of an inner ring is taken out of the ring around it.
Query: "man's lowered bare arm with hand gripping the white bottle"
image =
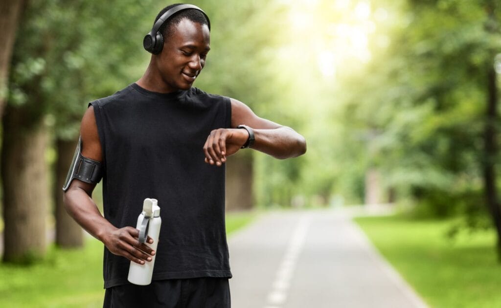
[[[101,143],[92,106],[84,114],[80,136],[82,138],[82,155],[96,161],[102,161]],[[155,252],[139,242],[139,230],[134,227],[119,229],[101,215],[96,203],[92,200],[92,191],[95,187],[96,184],[74,179],[63,195],[66,211],[87,232],[102,241],[112,253],[140,264],[150,261],[151,255]],[[152,243],[153,240],[148,237],[148,242]]]

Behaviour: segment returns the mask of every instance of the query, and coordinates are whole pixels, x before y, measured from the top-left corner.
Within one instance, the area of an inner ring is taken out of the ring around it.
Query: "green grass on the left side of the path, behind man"
[[[229,213],[227,233],[254,218],[254,213]],[[82,249],[52,246],[43,261],[31,266],[0,264],[0,307],[100,307],[102,260],[103,244],[87,238]]]

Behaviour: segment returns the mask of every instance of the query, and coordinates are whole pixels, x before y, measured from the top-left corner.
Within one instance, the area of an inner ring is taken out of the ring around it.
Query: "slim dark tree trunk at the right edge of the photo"
[[[496,121],[497,121],[497,85],[496,73],[490,66],[487,80],[487,113],[484,131],[485,158],[483,178],[485,185],[485,199],[492,216],[492,221],[497,233],[497,252],[501,260],[501,209],[497,199],[495,161],[496,148]]]

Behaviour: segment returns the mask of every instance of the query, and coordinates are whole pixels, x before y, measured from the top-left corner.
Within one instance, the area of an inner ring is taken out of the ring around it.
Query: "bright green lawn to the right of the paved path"
[[[432,307],[501,307],[501,264],[493,231],[452,240],[451,221],[399,216],[355,221],[374,245]]]

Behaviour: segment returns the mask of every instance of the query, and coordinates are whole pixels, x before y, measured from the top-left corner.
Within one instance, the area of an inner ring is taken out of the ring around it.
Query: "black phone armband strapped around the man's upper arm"
[[[63,191],[67,191],[73,179],[79,179],[89,184],[97,184],[102,178],[102,164],[99,161],[82,156],[82,137],[78,138],[75,156],[66,176]]]

